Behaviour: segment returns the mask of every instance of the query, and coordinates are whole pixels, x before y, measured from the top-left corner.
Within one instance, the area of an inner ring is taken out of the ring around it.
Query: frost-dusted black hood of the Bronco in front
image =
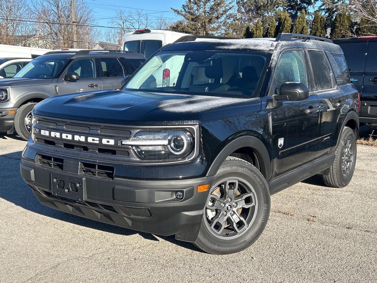
[[[188,125],[258,112],[260,98],[229,98],[138,91],[58,95],[40,102],[36,115],[123,125]]]

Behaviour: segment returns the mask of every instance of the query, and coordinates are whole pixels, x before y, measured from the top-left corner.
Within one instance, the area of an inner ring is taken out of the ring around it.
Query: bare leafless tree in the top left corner
[[[0,44],[17,45],[32,32],[26,0],[0,0]]]

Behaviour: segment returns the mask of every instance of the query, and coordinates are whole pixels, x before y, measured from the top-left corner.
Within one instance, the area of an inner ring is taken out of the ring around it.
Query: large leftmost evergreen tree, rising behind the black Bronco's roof
[[[173,31],[195,35],[222,35],[224,27],[233,16],[233,8],[228,0],[186,0],[182,9],[171,8],[183,19],[173,23]]]

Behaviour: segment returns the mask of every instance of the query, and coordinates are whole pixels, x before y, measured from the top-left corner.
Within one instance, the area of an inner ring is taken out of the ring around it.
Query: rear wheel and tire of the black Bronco
[[[351,128],[344,127],[340,135],[339,145],[335,150],[334,163],[329,168],[328,174],[322,175],[327,186],[343,188],[349,184],[355,171],[356,154],[356,136]],[[349,163],[348,160],[351,159],[352,163]],[[347,163],[347,166],[345,166],[345,163]]]

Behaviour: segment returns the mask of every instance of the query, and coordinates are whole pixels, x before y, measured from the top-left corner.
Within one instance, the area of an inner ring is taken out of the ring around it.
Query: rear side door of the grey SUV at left
[[[98,69],[102,80],[102,89],[120,88],[124,77],[124,69],[116,57],[101,57],[98,61]]]

